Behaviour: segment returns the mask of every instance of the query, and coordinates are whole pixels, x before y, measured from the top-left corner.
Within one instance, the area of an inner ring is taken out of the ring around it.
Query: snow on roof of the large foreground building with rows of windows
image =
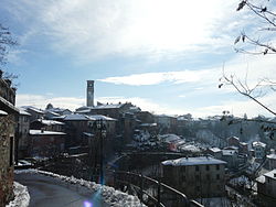
[[[210,164],[226,164],[226,162],[210,156],[181,157],[177,160],[169,160],[162,162],[162,165],[173,165],[173,166],[210,165]]]

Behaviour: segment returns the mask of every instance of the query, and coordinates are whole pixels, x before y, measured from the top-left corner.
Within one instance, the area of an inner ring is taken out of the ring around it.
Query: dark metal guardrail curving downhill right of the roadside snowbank
[[[147,206],[156,207],[203,207],[195,200],[151,177],[125,171],[110,171],[113,185],[123,192],[137,195]]]

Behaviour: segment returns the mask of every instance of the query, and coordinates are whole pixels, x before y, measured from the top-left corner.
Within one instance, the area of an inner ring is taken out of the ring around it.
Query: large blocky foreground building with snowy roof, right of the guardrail
[[[224,196],[225,162],[211,156],[163,161],[163,182],[188,198]]]

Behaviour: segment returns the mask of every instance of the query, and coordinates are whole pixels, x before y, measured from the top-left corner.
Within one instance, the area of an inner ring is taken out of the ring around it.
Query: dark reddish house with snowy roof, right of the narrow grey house
[[[29,154],[49,157],[64,152],[66,133],[44,130],[30,130]]]

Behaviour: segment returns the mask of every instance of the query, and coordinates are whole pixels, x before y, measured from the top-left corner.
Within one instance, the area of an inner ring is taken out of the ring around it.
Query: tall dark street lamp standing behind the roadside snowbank
[[[94,130],[96,130],[99,138],[99,183],[104,184],[104,139],[106,138],[106,126],[103,119],[94,122]]]

